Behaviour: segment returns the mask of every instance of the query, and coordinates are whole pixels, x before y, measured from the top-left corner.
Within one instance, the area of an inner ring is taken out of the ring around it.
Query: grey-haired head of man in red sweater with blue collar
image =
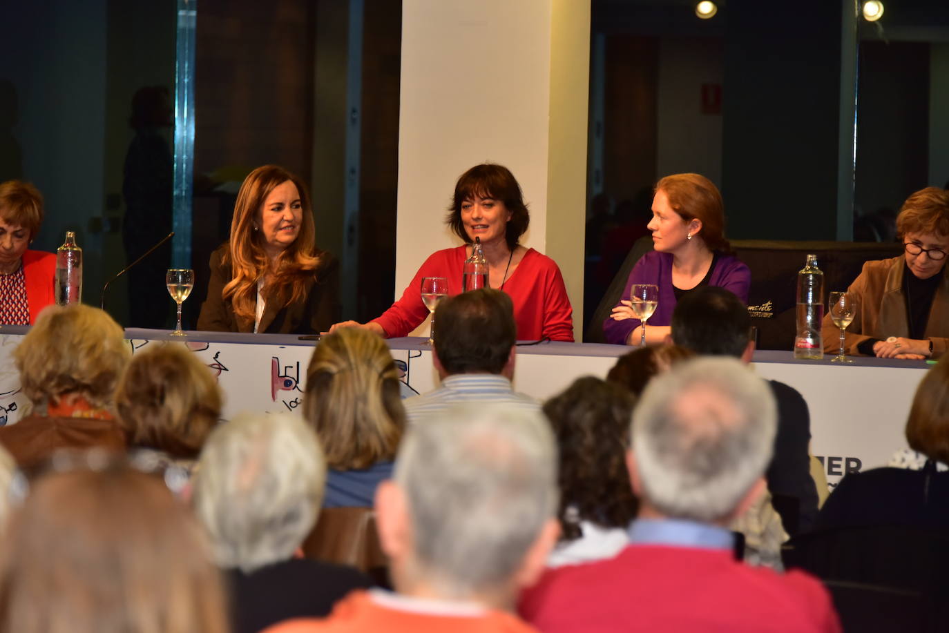
[[[669,517],[727,518],[771,461],[776,419],[768,384],[736,359],[679,363],[633,413],[643,496]]]

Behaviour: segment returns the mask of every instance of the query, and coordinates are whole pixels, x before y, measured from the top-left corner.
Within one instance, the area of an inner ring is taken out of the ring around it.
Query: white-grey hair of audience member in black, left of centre
[[[245,413],[218,425],[194,494],[217,565],[251,572],[288,560],[316,523],[325,487],[326,458],[303,419]]]

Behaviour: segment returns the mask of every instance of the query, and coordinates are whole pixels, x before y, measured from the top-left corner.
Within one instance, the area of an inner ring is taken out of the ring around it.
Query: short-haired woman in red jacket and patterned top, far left
[[[28,251],[43,224],[43,195],[21,180],[0,184],[0,325],[31,326],[53,303],[56,255]]]

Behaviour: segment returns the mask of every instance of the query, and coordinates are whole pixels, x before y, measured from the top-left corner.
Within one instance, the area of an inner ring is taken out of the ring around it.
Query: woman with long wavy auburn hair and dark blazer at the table
[[[277,165],[244,179],[231,239],[211,255],[208,298],[197,328],[306,334],[338,318],[339,267],[316,248],[303,180]]]

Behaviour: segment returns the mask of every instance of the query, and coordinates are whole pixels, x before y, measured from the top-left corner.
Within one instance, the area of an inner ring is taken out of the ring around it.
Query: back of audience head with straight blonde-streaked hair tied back
[[[405,428],[405,409],[399,370],[385,341],[360,327],[323,337],[307,367],[303,414],[330,468],[391,461]]]

